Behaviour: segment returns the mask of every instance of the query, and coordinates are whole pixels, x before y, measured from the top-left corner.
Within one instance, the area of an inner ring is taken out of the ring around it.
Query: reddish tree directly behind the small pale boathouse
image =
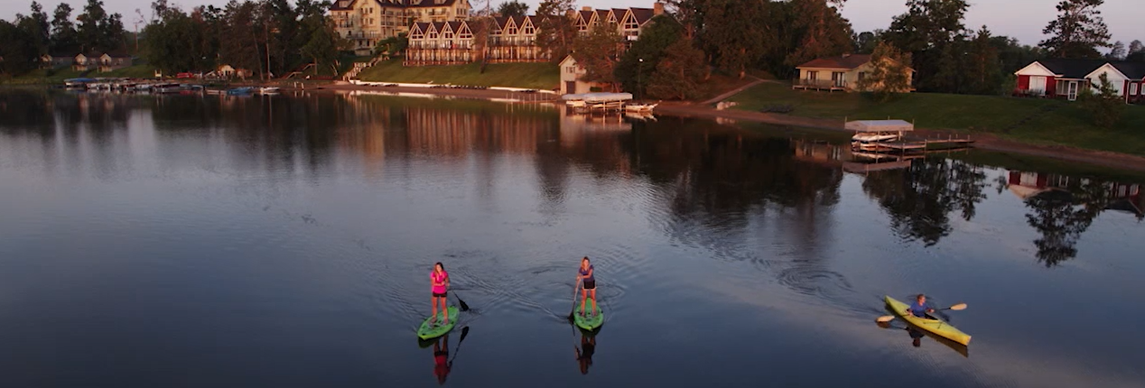
[[[572,58],[584,66],[584,81],[600,82],[616,89],[616,64],[624,41],[613,23],[594,26],[587,35],[572,41]]]

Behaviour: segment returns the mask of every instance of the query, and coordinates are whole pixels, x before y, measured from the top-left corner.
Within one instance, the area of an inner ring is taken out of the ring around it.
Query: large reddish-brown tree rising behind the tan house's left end
[[[843,18],[839,8],[846,0],[791,0],[791,33],[797,37],[796,49],[787,56],[788,69],[807,61],[851,53],[854,41],[851,22]]]

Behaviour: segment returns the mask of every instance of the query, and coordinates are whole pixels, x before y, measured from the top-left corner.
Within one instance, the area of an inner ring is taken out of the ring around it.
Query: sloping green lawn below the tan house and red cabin
[[[790,114],[829,119],[903,119],[921,128],[993,133],[1036,144],[1058,144],[1145,156],[1145,106],[1127,106],[1113,128],[1092,125],[1076,102],[1001,96],[913,93],[878,103],[856,93],[792,90],[764,84],[731,98],[756,111],[790,104]]]

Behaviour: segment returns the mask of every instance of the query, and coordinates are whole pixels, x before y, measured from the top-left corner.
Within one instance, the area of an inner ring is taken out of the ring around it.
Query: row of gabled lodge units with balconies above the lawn
[[[361,1],[361,0],[360,0]],[[460,1],[460,0],[458,0]],[[640,31],[652,22],[653,17],[664,13],[663,3],[655,8],[613,8],[597,9],[585,7],[569,15],[572,24],[581,33],[589,33],[592,27],[610,23],[617,33],[624,37],[627,45],[639,39]],[[484,42],[476,41],[477,32],[485,24],[491,29],[489,48]],[[406,66],[449,65],[475,62],[482,52],[489,63],[507,62],[544,62],[552,60],[537,46],[536,16],[495,17],[491,22],[439,21],[413,23],[409,30],[409,47],[405,49]]]

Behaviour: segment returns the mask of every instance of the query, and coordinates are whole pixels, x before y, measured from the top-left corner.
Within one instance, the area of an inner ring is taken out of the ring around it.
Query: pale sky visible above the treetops
[[[198,5],[222,6],[227,0],[169,0],[172,3],[191,8]],[[483,0],[469,0],[477,7]],[[493,7],[503,0],[492,0]],[[540,0],[522,0],[530,5],[530,10],[536,9]],[[40,0],[49,17],[61,0]],[[70,0],[72,15],[82,11],[87,0]],[[124,15],[124,26],[134,29],[134,23],[139,19],[135,9],[141,9],[144,15],[150,16],[150,0],[103,0],[104,8],[111,13]],[[970,10],[966,13],[966,26],[977,30],[982,24],[987,25],[994,34],[1017,38],[1025,45],[1037,45],[1045,39],[1042,29],[1057,15],[1055,6],[1058,0],[970,0]],[[31,0],[0,0],[0,18],[13,19],[16,13],[30,13]],[[590,7],[646,7],[652,8],[653,0],[578,0],[578,6]],[[870,31],[875,29],[886,29],[891,25],[891,18],[907,10],[906,0],[847,0],[843,8],[843,15],[851,19],[851,25],[855,31]],[[1113,34],[1112,41],[1124,41],[1128,45],[1134,39],[1145,40],[1145,7],[1142,0],[1106,0],[1101,6],[1101,15]],[[142,27],[142,24],[140,25]]]

